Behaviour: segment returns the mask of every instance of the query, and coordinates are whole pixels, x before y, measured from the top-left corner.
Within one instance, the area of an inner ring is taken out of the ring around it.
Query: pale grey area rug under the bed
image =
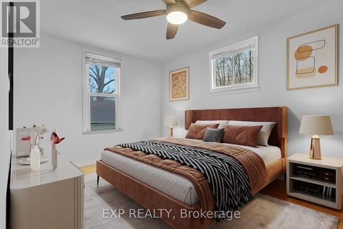
[[[130,209],[134,214],[130,215]],[[340,221],[333,215],[263,194],[255,195],[239,211],[240,218],[224,220],[211,226],[211,229],[336,229]],[[84,228],[171,228],[161,219],[153,218],[158,214],[144,217],[146,214],[142,206],[104,179],[100,178],[97,186],[95,174],[85,176]]]

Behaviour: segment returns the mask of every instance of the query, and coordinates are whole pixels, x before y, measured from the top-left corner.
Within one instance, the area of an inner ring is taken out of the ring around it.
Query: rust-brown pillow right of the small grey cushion
[[[224,135],[222,142],[230,144],[240,144],[242,146],[257,147],[257,137],[263,126],[233,126],[224,125]]]

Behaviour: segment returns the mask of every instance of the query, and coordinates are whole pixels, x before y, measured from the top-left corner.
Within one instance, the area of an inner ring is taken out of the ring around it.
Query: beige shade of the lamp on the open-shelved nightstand
[[[303,116],[299,133],[310,135],[333,135],[330,116]]]

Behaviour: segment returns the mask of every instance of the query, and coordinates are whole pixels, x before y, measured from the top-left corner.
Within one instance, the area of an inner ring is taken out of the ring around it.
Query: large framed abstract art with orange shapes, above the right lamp
[[[287,39],[287,90],[338,85],[338,24]]]

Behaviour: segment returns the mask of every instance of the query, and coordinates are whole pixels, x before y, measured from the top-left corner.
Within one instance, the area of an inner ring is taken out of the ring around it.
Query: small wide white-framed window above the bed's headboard
[[[211,92],[258,88],[257,36],[210,52]]]

